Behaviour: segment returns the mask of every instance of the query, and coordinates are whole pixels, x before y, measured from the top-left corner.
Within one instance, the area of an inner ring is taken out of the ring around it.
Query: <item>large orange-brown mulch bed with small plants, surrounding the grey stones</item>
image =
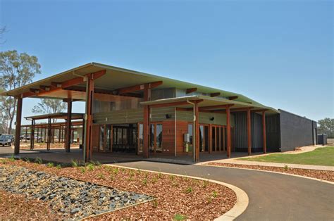
[[[219,184],[141,170],[93,164],[61,168],[59,165],[51,163],[44,165],[13,159],[1,160],[1,165],[16,165],[32,170],[40,170],[61,177],[80,179],[122,191],[154,196],[155,198],[147,203],[91,218],[96,220],[182,220],[185,218],[214,220],[214,218],[233,208],[237,199],[234,191]],[[4,211],[5,219],[7,213],[11,213],[11,210]],[[41,214],[39,219],[43,218],[49,218],[49,216],[44,217]]]

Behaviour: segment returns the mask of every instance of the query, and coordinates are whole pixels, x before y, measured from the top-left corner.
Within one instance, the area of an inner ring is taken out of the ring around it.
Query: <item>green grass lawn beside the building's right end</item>
[[[307,153],[273,153],[268,156],[241,158],[240,160],[334,166],[334,146],[318,148]]]

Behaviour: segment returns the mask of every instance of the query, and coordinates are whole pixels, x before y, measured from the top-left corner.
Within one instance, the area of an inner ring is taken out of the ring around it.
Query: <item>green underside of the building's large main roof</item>
[[[137,72],[135,70],[128,70],[124,68],[118,68],[111,65],[104,65],[101,63],[87,63],[85,65],[81,65],[78,68],[73,68],[70,70],[66,70],[65,72],[61,72],[57,75],[53,75],[51,77],[47,77],[43,80],[39,80],[37,82],[32,82],[31,84],[27,84],[23,87],[13,89],[11,91],[4,91],[1,93],[3,96],[19,96],[24,92],[30,91],[30,89],[39,89],[41,85],[50,85],[51,82],[64,82],[66,80],[73,79],[78,77],[78,75],[87,75],[91,72],[97,72],[99,70],[106,70],[106,75],[100,77],[97,80],[94,80],[94,87],[99,89],[119,89],[122,87],[130,87],[137,84],[144,84],[148,82],[156,82],[163,81],[161,86],[157,87],[157,89],[163,88],[178,88],[178,89],[188,89],[197,87],[197,91],[202,93],[216,93],[220,92],[221,96],[238,96],[235,101],[249,103],[251,102],[251,106],[259,106],[261,108],[268,108],[263,106],[261,103],[258,103],[252,99],[249,99],[247,96],[242,94],[233,93],[230,91],[224,91],[221,89],[215,89],[211,87],[204,87],[198,84],[192,84],[189,82],[183,82],[180,80],[173,80],[167,77],[161,77],[156,75],[150,75],[144,72]],[[85,84],[78,84],[78,86],[85,87]],[[39,96],[32,96],[35,98],[41,98]],[[245,104],[244,103],[244,104]],[[271,108],[273,109],[273,108]],[[273,109],[275,110],[275,109]],[[277,111],[277,110],[276,110]]]

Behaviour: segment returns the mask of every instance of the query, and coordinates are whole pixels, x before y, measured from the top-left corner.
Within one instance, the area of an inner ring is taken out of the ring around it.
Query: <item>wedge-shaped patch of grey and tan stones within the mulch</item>
[[[46,201],[54,213],[72,218],[98,215],[153,199],[13,165],[0,168],[0,189]]]

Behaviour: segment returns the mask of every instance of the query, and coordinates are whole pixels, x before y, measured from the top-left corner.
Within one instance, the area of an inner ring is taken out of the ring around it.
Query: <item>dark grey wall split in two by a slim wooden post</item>
[[[247,113],[235,112],[235,134],[233,137],[235,151],[247,151]],[[252,152],[263,151],[262,116],[257,113],[251,115],[252,123]]]

